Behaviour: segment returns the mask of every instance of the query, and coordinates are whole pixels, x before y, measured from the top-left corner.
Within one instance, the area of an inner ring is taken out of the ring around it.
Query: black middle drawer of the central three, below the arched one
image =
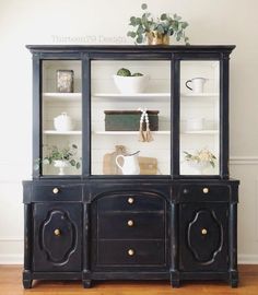
[[[113,213],[98,215],[98,238],[159,239],[165,237],[163,213]]]

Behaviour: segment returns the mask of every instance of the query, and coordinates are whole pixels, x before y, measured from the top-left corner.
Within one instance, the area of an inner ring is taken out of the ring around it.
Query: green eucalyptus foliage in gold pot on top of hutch
[[[141,17],[131,16],[129,25],[133,26],[133,31],[127,33],[128,37],[136,38],[137,44],[142,44],[146,34],[157,32],[160,35],[175,36],[176,40],[183,39],[189,45],[189,38],[185,35],[188,26],[187,22],[181,21],[177,14],[171,16],[162,13],[160,17],[154,19],[150,12],[145,12],[148,5],[143,3],[141,9],[144,11]]]

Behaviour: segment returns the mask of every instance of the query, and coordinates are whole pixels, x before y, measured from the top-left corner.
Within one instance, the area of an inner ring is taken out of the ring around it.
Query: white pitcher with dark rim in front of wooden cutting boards
[[[138,161],[138,154],[140,151],[130,155],[118,155],[116,157],[116,164],[121,169],[124,175],[139,175],[140,166]],[[118,158],[124,160],[122,166],[119,164]]]

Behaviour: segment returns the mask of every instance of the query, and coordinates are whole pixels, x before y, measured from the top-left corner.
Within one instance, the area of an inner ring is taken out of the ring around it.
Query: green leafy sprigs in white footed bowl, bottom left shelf
[[[75,160],[75,155],[78,152],[78,146],[72,144],[69,148],[59,149],[57,145],[45,145],[47,148],[47,154],[44,158],[36,160],[34,165],[34,169],[38,169],[40,164],[51,165],[54,161],[67,161],[72,167],[79,169],[81,167],[81,163]]]

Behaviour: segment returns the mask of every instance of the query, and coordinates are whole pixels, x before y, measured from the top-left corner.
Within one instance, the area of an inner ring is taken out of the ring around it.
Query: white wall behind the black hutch
[[[238,253],[258,263],[258,30],[256,0],[150,0],[190,23],[192,45],[235,44],[231,60],[231,172],[242,180]],[[161,4],[162,3],[162,4]],[[22,179],[31,177],[32,67],[25,44],[132,44],[141,1],[0,0],[0,263],[22,262]]]

